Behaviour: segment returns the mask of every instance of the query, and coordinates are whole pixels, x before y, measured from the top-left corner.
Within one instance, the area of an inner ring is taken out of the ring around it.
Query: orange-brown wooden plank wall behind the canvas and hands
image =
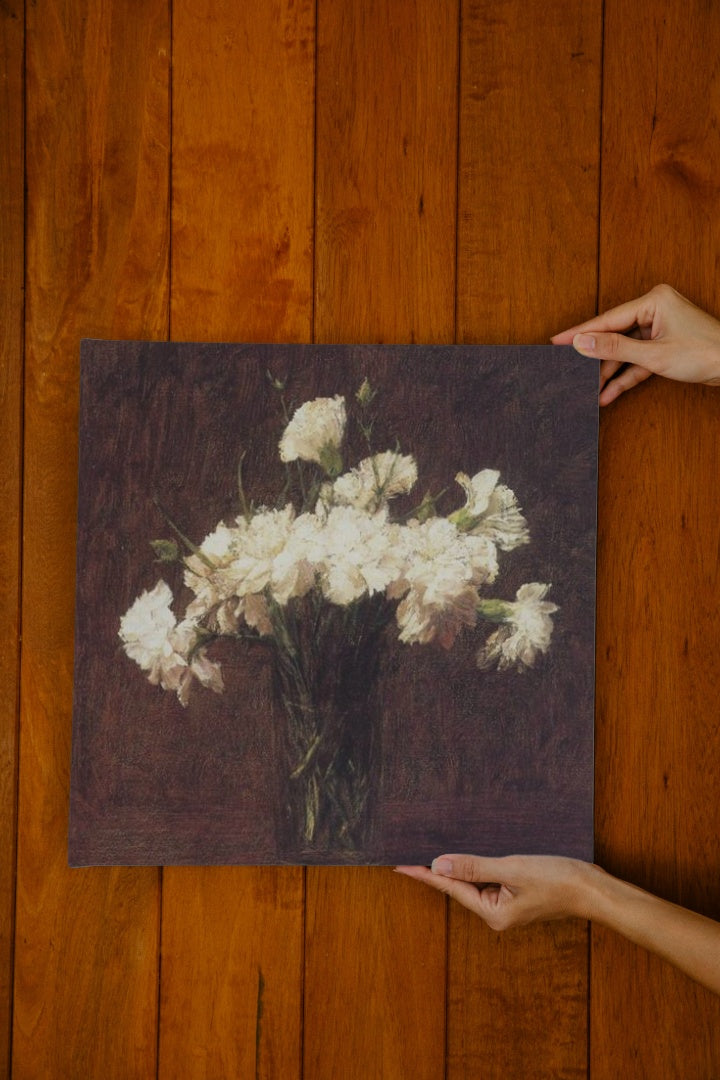
[[[718,999],[599,928],[66,859],[80,338],[544,341],[662,279],[720,314],[719,55],[703,0],[0,6],[0,1075],[720,1076]],[[715,917],[719,421],[602,415],[596,770],[598,860]]]

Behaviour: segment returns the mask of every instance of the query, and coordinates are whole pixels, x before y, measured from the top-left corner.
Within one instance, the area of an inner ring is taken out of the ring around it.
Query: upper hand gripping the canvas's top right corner
[[[655,285],[551,340],[601,361],[600,405],[651,375],[720,384],[720,322],[669,285]]]

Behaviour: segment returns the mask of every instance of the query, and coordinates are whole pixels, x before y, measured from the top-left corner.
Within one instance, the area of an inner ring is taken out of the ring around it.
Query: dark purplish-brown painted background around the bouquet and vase
[[[560,607],[551,651],[522,674],[478,672],[487,624],[449,651],[391,629],[376,836],[352,858],[308,859],[277,835],[284,717],[269,649],[217,646],[226,692],[196,687],[182,708],[118,639],[120,615],[160,577],[178,617],[190,595],[179,568],[153,563],[149,541],[173,535],[153,497],[199,543],[240,513],[243,449],[247,498],[282,490],[268,372],[288,379],[290,402],[345,396],[348,465],[367,453],[353,395],[369,378],[375,448],[399,443],[418,461],[399,511],[449,488],[448,513],[464,500],[457,472],[499,469],[532,540],[501,553],[491,594],[541,580]],[[71,862],[429,862],[463,845],[592,858],[596,438],[595,369],[571,349],[84,342]]]

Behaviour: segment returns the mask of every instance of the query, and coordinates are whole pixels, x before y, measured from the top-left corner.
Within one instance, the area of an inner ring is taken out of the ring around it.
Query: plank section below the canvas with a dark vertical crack
[[[300,1075],[302,870],[165,870],[160,1076]]]

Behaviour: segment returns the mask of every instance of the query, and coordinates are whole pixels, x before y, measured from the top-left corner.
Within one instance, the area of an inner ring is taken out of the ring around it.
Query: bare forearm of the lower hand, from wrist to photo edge
[[[720,994],[720,923],[592,867],[583,889],[584,910],[636,945],[673,963]]]

